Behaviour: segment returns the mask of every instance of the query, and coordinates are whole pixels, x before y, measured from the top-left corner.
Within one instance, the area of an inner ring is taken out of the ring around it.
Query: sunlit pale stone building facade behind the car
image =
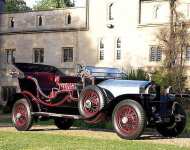
[[[177,4],[188,21],[190,2]],[[76,64],[154,70],[163,60],[155,35],[169,23],[169,2],[87,0],[85,7],[0,16],[4,63],[44,63],[66,73]]]

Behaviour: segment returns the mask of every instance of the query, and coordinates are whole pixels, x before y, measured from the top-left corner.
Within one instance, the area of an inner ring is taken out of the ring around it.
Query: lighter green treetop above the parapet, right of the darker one
[[[34,6],[35,10],[47,10],[54,8],[71,7],[74,4],[70,0],[40,0]]]

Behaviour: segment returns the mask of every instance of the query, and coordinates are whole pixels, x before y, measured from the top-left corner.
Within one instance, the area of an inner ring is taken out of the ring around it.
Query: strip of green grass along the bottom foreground
[[[40,132],[5,132],[0,134],[1,150],[188,150],[188,148],[149,144],[141,141],[106,140]]]

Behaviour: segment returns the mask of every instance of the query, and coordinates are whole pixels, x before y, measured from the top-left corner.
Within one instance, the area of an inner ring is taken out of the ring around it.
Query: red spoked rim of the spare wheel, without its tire
[[[86,117],[93,117],[100,110],[100,97],[94,90],[87,90],[82,99],[83,111]]]

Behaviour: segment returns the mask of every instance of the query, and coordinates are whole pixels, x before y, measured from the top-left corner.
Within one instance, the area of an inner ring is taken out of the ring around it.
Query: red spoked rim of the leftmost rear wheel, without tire
[[[24,104],[17,104],[13,114],[14,122],[17,127],[23,127],[28,122],[28,112]]]

